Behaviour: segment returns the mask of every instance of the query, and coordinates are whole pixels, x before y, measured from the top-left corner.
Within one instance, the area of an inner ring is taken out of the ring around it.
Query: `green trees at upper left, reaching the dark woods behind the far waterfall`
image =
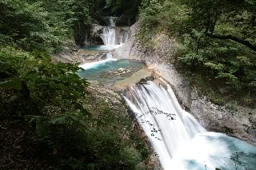
[[[125,16],[134,22],[141,0],[6,0],[0,2],[0,45],[27,51],[56,52],[68,38],[79,44],[90,33],[92,21]],[[95,21],[94,21],[95,22]],[[106,23],[105,23],[106,24]],[[123,24],[123,23],[122,23]]]

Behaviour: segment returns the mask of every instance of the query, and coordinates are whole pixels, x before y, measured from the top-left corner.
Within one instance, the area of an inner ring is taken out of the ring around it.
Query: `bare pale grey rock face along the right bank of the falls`
[[[174,48],[172,48],[175,39],[167,38],[163,31],[154,36],[152,48],[143,48],[135,38],[139,29],[139,22],[131,26],[130,39],[114,51],[113,57],[144,61],[150,69],[154,69],[158,75],[170,82],[181,105],[192,113],[206,129],[224,132],[256,145],[256,109],[239,105],[236,109],[229,109],[227,105],[214,105],[200,89],[190,85],[178,69],[171,64],[171,60],[176,57]]]

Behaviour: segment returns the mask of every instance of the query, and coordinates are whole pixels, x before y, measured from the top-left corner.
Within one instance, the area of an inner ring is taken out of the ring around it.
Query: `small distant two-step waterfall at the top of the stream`
[[[101,38],[104,45],[120,45],[125,43],[130,34],[129,26],[115,26],[117,17],[107,17],[108,26],[103,26]]]

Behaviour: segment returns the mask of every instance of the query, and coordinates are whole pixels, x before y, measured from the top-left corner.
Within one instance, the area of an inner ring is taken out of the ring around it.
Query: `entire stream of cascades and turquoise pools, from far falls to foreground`
[[[78,70],[78,74],[91,85],[122,91],[162,169],[256,170],[256,147],[222,133],[207,132],[182,109],[168,82],[161,77],[146,81],[154,70],[141,61],[114,59],[111,50],[120,45],[113,45],[113,26],[108,29],[103,38],[109,44],[82,48],[85,64],[80,67],[85,70]]]

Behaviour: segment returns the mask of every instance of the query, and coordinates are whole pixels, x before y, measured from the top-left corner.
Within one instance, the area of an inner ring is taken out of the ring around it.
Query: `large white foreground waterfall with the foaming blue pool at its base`
[[[162,80],[162,82],[164,82]],[[124,95],[165,170],[255,170],[256,148],[207,132],[178,104],[170,85],[130,86]]]

